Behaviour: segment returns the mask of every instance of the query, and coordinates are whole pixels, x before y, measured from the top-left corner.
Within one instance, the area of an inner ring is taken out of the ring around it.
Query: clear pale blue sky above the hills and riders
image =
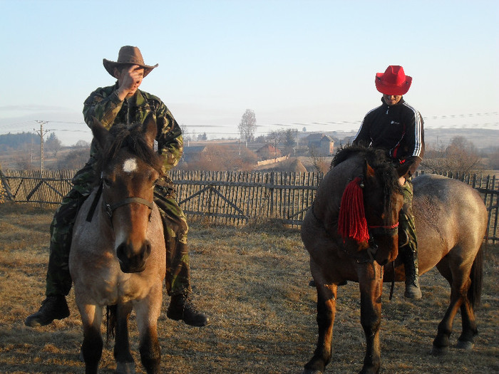
[[[83,101],[123,45],[159,63],[140,89],[210,138],[237,137],[246,109],[256,135],[356,130],[389,65],[427,128],[499,130],[497,0],[0,0],[0,134],[43,120],[64,145],[91,140]]]

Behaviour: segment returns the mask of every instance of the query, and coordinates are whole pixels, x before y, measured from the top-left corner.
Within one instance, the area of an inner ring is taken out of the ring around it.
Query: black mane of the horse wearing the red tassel
[[[341,164],[341,162],[357,155],[366,160],[369,166],[374,169],[376,179],[379,180],[384,189],[385,210],[388,212],[391,209],[391,194],[401,194],[402,189],[398,184],[398,175],[395,166],[386,157],[384,150],[365,147],[364,145],[345,145],[334,155],[331,167],[335,167]]]

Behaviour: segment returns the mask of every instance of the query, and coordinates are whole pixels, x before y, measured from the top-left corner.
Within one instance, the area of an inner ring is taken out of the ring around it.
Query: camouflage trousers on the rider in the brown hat
[[[71,290],[69,274],[69,251],[74,222],[78,209],[92,190],[95,172],[93,162],[88,162],[73,178],[73,188],[65,197],[53,216],[50,227],[50,257],[46,277],[46,296],[67,295]],[[163,219],[166,243],[166,278],[168,295],[189,294],[190,267],[187,248],[189,227],[184,212],[178,206],[173,184],[162,180],[155,186],[154,202]]]

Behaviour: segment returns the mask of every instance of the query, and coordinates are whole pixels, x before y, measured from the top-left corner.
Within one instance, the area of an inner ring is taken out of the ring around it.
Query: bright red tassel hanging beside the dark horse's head
[[[361,178],[352,180],[343,192],[339,207],[338,233],[343,240],[350,237],[356,241],[368,241],[366,214],[364,212],[364,195],[360,187]]]

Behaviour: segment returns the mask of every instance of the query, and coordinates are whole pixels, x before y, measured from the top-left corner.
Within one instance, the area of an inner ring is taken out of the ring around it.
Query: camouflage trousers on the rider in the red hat
[[[403,206],[398,213],[398,237],[402,256],[412,256],[418,275],[418,239],[416,224],[412,212],[413,185],[412,177],[402,186]]]

